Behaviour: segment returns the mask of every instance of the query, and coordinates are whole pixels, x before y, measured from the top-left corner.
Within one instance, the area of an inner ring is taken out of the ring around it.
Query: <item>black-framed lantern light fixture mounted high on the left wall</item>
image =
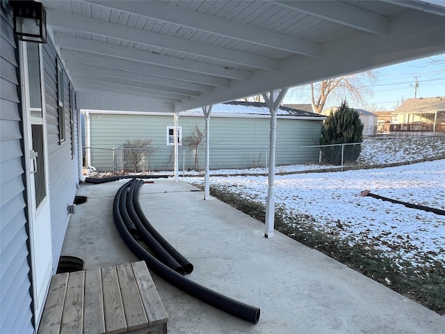
[[[27,42],[47,42],[47,13],[42,3],[10,1],[14,12],[14,33]]]

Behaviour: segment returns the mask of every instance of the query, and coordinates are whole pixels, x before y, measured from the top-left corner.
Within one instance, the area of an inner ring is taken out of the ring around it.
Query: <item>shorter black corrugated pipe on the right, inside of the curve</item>
[[[149,223],[142,208],[140,207],[139,191],[142,184],[142,181],[137,182],[133,191],[133,207],[136,211],[136,214],[138,215],[138,218],[140,219],[140,222],[143,224],[144,228],[147,229],[149,234],[152,234],[152,237],[154,237],[154,239],[158,241],[162,248],[164,248],[167,253],[169,253],[175,260],[177,260],[179,264],[181,264],[181,267],[184,269],[184,273],[191,273],[193,271],[193,264],[191,264],[191,262],[188,261],[186,257],[179,253],[179,251],[177,251],[175,247],[170,245],[168,241],[165,240],[161,234],[159,234],[159,232],[153,227],[153,225]]]

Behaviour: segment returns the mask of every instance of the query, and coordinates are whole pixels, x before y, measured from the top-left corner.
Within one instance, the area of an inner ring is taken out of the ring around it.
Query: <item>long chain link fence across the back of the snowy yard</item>
[[[173,148],[84,148],[84,166],[94,166],[98,173],[153,173],[174,170]],[[275,165],[293,166],[293,170],[346,170],[375,166],[396,166],[417,161],[445,158],[445,136],[417,138],[366,138],[362,143],[295,146],[275,149]],[[210,169],[268,168],[268,148],[211,148]],[[180,146],[179,170],[183,175],[205,168],[205,150]],[[296,168],[298,166],[298,168]]]

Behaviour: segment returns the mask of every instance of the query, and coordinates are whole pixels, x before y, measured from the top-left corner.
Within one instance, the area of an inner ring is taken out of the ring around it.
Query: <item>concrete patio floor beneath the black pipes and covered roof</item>
[[[138,260],[113,222],[122,182],[81,184],[62,255],[85,269]],[[392,292],[316,250],[185,182],[154,180],[140,189],[140,205],[154,227],[195,266],[187,277],[261,308],[258,324],[237,319],[152,273],[168,313],[168,333],[444,333],[445,317]]]

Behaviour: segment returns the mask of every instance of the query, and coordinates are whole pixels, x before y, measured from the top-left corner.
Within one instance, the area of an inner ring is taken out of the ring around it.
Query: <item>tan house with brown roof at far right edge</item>
[[[445,132],[445,97],[407,99],[391,114],[391,134]]]

